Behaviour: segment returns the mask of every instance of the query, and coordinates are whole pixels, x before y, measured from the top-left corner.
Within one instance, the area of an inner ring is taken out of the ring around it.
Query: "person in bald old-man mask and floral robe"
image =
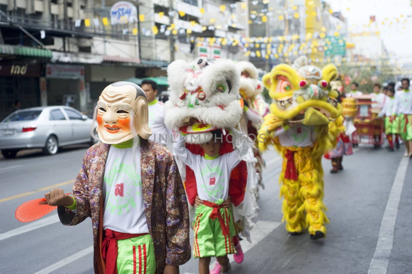
[[[172,153],[147,140],[145,93],[107,86],[94,120],[101,143],[86,152],[73,196],[56,188],[47,203],[63,225],[91,217],[96,274],[178,273],[190,259],[187,200]]]

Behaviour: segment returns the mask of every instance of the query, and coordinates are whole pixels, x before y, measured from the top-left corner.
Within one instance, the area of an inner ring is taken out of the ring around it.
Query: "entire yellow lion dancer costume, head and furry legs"
[[[291,235],[308,227],[311,239],[326,235],[321,159],[336,145],[338,130],[329,123],[342,114],[338,93],[328,90],[336,77],[335,65],[321,70],[307,65],[305,56],[292,66],[279,64],[263,77],[273,103],[259,130],[259,149],[273,144],[283,156],[282,221]]]

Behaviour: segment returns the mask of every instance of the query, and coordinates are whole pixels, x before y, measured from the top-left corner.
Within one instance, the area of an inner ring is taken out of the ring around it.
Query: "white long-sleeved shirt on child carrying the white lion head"
[[[196,178],[197,195],[201,200],[217,202],[226,200],[232,170],[240,163],[237,152],[232,151],[216,158],[193,154],[186,149],[185,138],[179,136],[173,144],[174,153],[190,167]]]

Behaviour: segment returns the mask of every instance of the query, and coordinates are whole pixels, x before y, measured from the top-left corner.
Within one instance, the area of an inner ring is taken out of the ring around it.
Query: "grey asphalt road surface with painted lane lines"
[[[90,219],[65,227],[56,212],[32,223],[20,223],[14,217],[21,203],[44,197],[56,184],[71,192],[86,149],[71,147],[55,156],[29,151],[15,159],[0,159],[1,274],[93,273]],[[246,239],[241,241],[247,252],[242,264],[232,261],[233,273],[412,273],[412,160],[402,157],[403,150],[403,146],[396,152],[361,147],[344,158],[345,170],[338,174],[330,174],[330,162],[324,160],[324,202],[331,223],[326,239],[319,241],[311,241],[307,232],[290,236],[280,224],[281,161],[274,151],[265,153],[266,188],[260,192],[258,225],[251,244]],[[397,187],[391,191],[394,183]],[[396,197],[399,206],[393,200]],[[393,230],[390,222],[382,223],[387,218],[396,218]],[[390,244],[385,245],[388,239]],[[382,246],[387,260],[379,264],[384,257],[375,251],[381,251]],[[371,266],[372,258],[375,268]],[[180,273],[198,273],[197,263],[191,259],[180,267]]]

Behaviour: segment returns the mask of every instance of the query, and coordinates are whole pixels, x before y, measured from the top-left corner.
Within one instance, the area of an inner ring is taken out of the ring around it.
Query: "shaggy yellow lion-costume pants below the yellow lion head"
[[[288,159],[287,151],[293,151],[293,159],[297,180],[286,179],[285,172]],[[326,235],[325,223],[329,223],[323,204],[323,180],[321,165],[314,162],[311,155],[313,147],[283,147],[282,172],[279,182],[282,183],[280,197],[284,197],[282,212],[288,232],[302,232],[309,226],[309,233],[314,235],[321,231]],[[304,212],[306,211],[306,220]]]

